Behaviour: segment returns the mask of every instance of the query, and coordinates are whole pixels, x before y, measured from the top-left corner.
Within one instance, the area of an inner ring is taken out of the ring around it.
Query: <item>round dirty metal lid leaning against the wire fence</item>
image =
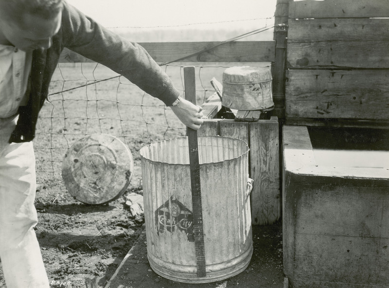
[[[123,195],[133,166],[131,151],[122,141],[108,134],[92,134],[68,149],[62,179],[78,201],[104,204]]]

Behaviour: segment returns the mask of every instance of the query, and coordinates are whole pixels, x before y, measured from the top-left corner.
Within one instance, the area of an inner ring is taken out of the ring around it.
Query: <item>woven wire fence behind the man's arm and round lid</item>
[[[265,27],[265,30],[272,27]],[[227,41],[258,31],[264,29]],[[222,82],[226,68],[242,63],[172,61],[160,65],[181,91],[181,96],[184,95],[183,67],[195,66],[197,105],[202,105],[215,92],[210,83],[212,77]],[[98,63],[59,63],[48,101],[39,114],[37,124],[34,145],[38,181],[60,179],[67,150],[75,141],[94,133],[110,134],[123,141],[131,150],[134,174],[140,177],[140,148],[163,139],[185,136],[186,127],[159,99],[146,94],[105,66]]]

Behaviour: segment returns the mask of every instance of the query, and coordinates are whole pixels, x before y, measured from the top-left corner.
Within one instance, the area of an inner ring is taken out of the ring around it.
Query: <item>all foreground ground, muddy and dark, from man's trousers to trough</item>
[[[125,195],[142,194],[141,186],[130,184],[121,198],[106,205],[87,205],[74,200],[61,181],[39,180],[35,201],[35,232],[51,288],[85,288],[86,278],[93,277],[104,288],[135,243],[111,288],[283,287],[281,223],[253,227],[252,260],[241,274],[201,287],[182,284],[161,278],[148,264],[143,222],[125,205]],[[5,288],[1,269],[0,288]]]

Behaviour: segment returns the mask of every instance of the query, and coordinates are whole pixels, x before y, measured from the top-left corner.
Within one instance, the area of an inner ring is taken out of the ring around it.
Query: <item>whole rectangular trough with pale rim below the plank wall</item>
[[[283,126],[289,287],[389,287],[389,132],[310,129]]]

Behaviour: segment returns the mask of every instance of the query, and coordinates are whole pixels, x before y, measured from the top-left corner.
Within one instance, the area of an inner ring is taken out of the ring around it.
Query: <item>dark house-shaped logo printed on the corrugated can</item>
[[[157,223],[157,234],[165,231],[174,233],[183,231],[188,237],[188,241],[194,242],[193,235],[193,213],[181,202],[171,197],[155,212]]]

